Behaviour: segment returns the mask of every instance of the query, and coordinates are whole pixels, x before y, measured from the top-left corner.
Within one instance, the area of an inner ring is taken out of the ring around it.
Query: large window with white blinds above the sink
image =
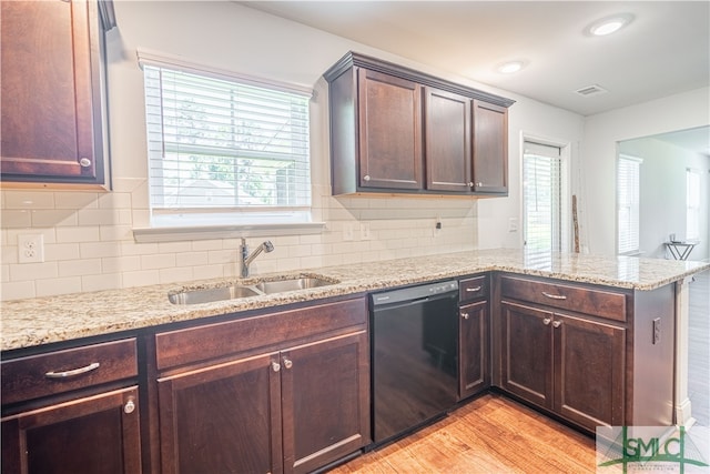
[[[154,225],[307,220],[310,94],[142,65]]]

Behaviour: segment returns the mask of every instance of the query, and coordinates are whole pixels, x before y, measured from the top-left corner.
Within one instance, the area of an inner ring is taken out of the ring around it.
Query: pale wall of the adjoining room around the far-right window
[[[691,260],[708,258],[710,157],[643,138],[619,143],[619,152],[643,159],[640,173],[640,250],[645,256],[671,258],[663,242],[670,233],[686,239],[686,169],[700,172],[700,244]]]

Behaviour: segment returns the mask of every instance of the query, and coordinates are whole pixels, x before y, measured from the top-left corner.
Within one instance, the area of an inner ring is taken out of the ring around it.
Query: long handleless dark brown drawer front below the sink
[[[365,299],[267,313],[155,335],[158,369],[192,364],[315,336],[367,322]]]

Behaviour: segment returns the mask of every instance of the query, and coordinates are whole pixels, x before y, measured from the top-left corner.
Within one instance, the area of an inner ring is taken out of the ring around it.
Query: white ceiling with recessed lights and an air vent
[[[581,115],[710,85],[710,1],[241,3]],[[635,19],[585,33],[616,13]],[[516,59],[523,71],[496,72]],[[575,92],[592,84],[608,92]]]

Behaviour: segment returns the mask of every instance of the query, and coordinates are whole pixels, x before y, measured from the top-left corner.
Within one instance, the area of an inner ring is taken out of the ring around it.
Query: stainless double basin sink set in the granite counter
[[[250,280],[251,283],[233,283],[193,290],[170,292],[168,300],[173,304],[200,304],[216,301],[236,300],[263,294],[284,293],[307,290],[339,283],[320,275],[296,275]]]

